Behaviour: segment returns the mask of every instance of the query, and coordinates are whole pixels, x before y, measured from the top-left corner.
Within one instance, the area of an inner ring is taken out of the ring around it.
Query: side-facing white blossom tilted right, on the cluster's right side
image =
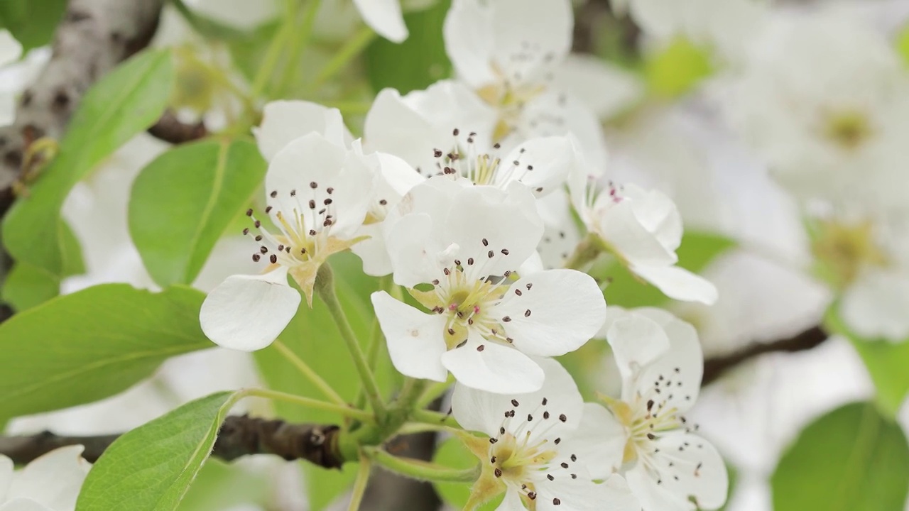
[[[672,199],[658,190],[609,183],[597,193],[580,172],[571,182],[572,202],[588,233],[635,275],[676,300],[716,301],[716,287],[674,266],[682,243],[682,218]]]

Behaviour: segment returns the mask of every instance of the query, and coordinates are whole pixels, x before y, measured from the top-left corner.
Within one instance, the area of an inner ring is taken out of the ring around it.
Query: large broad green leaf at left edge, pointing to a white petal
[[[212,347],[205,295],[105,284],[60,296],[0,325],[0,419],[113,396],[171,356]]]

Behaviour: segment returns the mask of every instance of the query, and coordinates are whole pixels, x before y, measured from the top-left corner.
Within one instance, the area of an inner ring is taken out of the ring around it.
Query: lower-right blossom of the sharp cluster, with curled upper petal
[[[704,371],[694,327],[661,309],[611,308],[604,329],[622,375],[622,396],[607,399],[612,415],[605,416],[604,434],[622,432],[624,445],[597,459],[621,466],[644,511],[723,506],[723,458],[682,415],[694,405]],[[600,469],[600,475],[610,473],[609,466]]]

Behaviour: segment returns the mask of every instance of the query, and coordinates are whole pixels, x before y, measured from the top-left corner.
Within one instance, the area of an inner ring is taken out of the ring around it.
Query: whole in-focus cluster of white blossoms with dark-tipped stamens
[[[247,212],[244,231],[264,271],[215,288],[203,330],[229,348],[270,345],[302,301],[288,276],[312,304],[320,266],[351,250],[366,274],[390,275],[410,295],[372,296],[395,368],[454,376],[455,418],[485,434],[472,446],[483,461],[477,503],[506,490],[499,509],[722,506],[723,461],[681,416],[700,386],[694,329],[661,311],[607,309],[577,269],[576,252],[609,252],[667,296],[716,298],[675,266],[682,223],[666,195],[599,184],[597,117],[622,101],[584,98],[583,85],[593,76],[617,95],[633,87],[568,55],[572,25],[568,0],[454,1],[445,43],[456,78],[382,91],[362,139],[335,109],[266,105],[255,130],[266,205]],[[584,405],[549,358],[599,334],[625,378],[622,399],[605,407]]]

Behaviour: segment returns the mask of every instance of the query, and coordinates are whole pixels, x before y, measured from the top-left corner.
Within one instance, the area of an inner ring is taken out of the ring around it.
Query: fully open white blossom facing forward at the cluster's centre
[[[395,283],[427,312],[373,295],[395,367],[407,376],[492,392],[530,392],[543,371],[528,355],[577,349],[603,324],[605,302],[590,276],[548,270],[514,278],[540,241],[534,197],[438,176],[399,206],[386,243]]]

